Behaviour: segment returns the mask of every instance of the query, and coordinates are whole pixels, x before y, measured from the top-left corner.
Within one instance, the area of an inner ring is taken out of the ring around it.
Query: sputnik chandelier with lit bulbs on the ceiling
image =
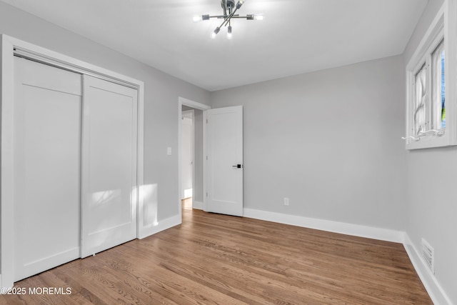
[[[224,15],[217,15],[217,16],[209,16],[209,15],[201,15],[201,16],[194,16],[194,22],[199,22],[202,20],[209,20],[211,18],[217,18],[217,19],[224,19],[222,21],[222,24],[211,33],[211,38],[215,39],[216,35],[221,31],[222,26],[229,26],[227,28],[227,39],[231,39],[232,33],[231,33],[231,19],[233,18],[241,18],[241,19],[246,19],[246,20],[263,20],[263,15],[262,14],[248,14],[246,16],[240,16],[238,14],[235,14],[238,9],[243,5],[243,3],[246,0],[238,0],[238,2],[235,4],[235,0],[221,0],[221,6],[222,9],[224,10]]]

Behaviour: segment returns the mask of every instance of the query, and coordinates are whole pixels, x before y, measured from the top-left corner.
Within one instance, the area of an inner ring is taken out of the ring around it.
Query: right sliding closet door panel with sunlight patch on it
[[[137,91],[84,75],[81,257],[136,238]]]

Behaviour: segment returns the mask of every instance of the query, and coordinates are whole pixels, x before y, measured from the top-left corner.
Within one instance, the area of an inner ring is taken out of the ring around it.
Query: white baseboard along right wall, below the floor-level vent
[[[451,305],[451,299],[449,299],[446,292],[444,292],[443,287],[441,287],[436,280],[436,277],[431,273],[430,269],[428,269],[428,266],[422,259],[421,251],[416,249],[411,242],[411,239],[409,239],[408,234],[405,234],[403,245],[405,246],[406,253],[409,256],[414,269],[416,269],[419,278],[421,278],[423,286],[426,288],[428,295],[431,297],[433,304]]]

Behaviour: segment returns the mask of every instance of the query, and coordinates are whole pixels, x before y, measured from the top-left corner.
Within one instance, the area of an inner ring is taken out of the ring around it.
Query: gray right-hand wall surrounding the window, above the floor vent
[[[407,63],[443,0],[430,0],[409,42]],[[435,250],[435,276],[457,304],[457,148],[409,151],[406,231],[416,249],[426,239]]]

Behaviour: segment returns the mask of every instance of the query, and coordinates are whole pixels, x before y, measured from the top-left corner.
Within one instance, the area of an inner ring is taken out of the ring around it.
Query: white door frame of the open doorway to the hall
[[[179,219],[181,219],[182,222],[182,206],[181,206],[181,117],[182,117],[182,108],[184,106],[189,106],[194,109],[198,109],[203,111],[204,117],[205,117],[205,110],[211,109],[211,106],[208,106],[206,104],[201,104],[198,101],[192,101],[191,99],[186,99],[184,97],[179,96],[178,98],[178,206],[179,206]],[[195,128],[194,128],[195,131]],[[205,141],[205,124],[204,124],[204,132],[203,132],[203,143],[206,143]],[[195,139],[195,134],[194,134],[194,139]],[[194,146],[193,146],[194,149]],[[206,147],[203,147],[204,151],[204,156],[206,155]],[[194,151],[195,152],[195,149]],[[193,162],[194,165],[192,166],[192,192],[195,194],[195,154],[193,156]],[[203,187],[206,189],[206,179],[205,179],[205,162],[204,162],[204,169],[203,169]],[[205,194],[205,193],[204,193]],[[206,206],[206,196],[203,196],[203,206]]]

